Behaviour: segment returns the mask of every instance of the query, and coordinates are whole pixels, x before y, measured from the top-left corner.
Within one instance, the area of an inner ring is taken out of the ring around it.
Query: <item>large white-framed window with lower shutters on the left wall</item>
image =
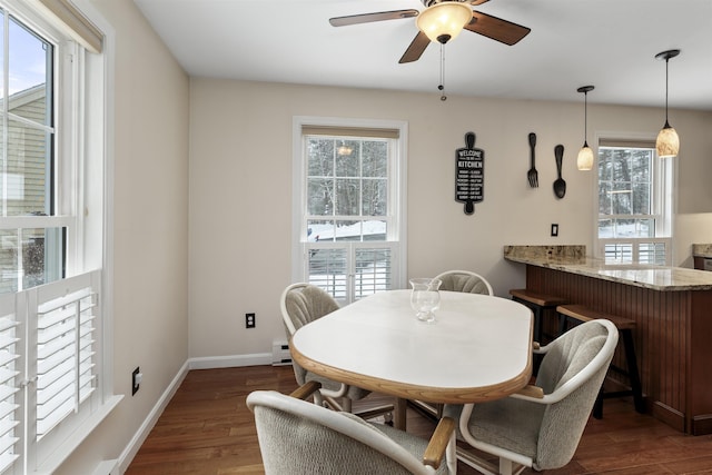
[[[0,473],[51,473],[119,400],[103,378],[105,59],[63,0],[0,0]]]

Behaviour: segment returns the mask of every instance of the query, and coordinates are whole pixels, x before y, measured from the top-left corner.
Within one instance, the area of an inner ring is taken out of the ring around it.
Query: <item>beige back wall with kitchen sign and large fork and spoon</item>
[[[273,338],[284,338],[278,298],[291,275],[294,116],[408,122],[411,277],[473,269],[506,296],[524,275],[521,265],[503,260],[503,245],[592,246],[595,177],[575,166],[583,110],[573,86],[573,102],[454,96],[442,102],[435,92],[191,79],[190,356],[265,353]],[[705,184],[712,176],[712,113],[671,111],[670,118],[683,144],[680,209],[712,211]],[[611,132],[654,139],[663,121],[661,109],[590,105],[589,140]],[[467,131],[485,150],[485,199],[473,216],[454,201],[454,155]],[[537,189],[526,182],[530,131],[538,136]],[[552,189],[556,144],[565,147],[567,190],[561,200]],[[560,225],[557,238],[550,237],[552,222]],[[247,311],[257,314],[257,328],[245,329]]]

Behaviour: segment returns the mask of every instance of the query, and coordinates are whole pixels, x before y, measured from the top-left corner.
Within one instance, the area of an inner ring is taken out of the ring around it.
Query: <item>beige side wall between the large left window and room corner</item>
[[[113,386],[125,398],[60,475],[117,458],[188,358],[188,77],[132,1],[91,3],[116,31]]]

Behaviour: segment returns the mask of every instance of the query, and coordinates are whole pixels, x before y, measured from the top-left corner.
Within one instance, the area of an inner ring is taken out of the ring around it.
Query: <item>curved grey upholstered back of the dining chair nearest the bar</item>
[[[609,320],[578,325],[548,345],[536,385],[551,398],[538,432],[534,468],[558,468],[574,455],[615,353],[619,331]]]

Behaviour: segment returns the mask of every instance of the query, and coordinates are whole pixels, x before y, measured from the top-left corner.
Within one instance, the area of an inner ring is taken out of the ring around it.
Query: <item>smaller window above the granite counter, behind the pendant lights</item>
[[[599,257],[670,264],[672,164],[657,158],[654,141],[600,141]]]

